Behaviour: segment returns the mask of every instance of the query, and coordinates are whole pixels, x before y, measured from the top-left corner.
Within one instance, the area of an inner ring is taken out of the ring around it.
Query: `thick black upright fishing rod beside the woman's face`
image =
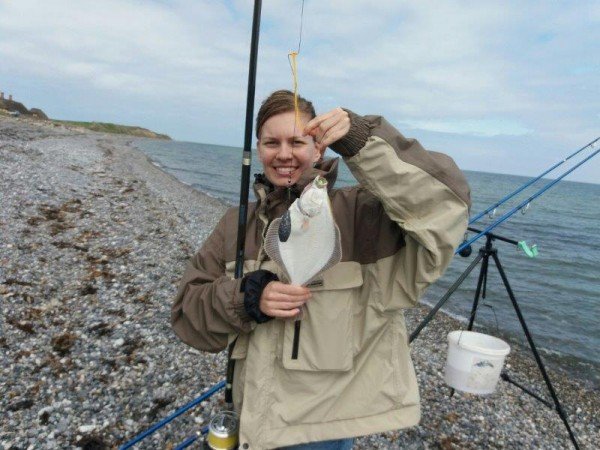
[[[248,194],[250,190],[250,164],[252,162],[252,125],[254,122],[254,94],[256,91],[256,67],[258,60],[258,40],[260,37],[260,12],[262,0],[254,1],[252,17],[252,40],[250,43],[250,67],[248,69],[248,94],[246,96],[246,130],[244,134],[244,151],[242,154],[242,180],[240,183],[240,207],[238,214],[238,236],[235,251],[235,278],[244,276],[244,252],[246,247],[246,223],[248,220]],[[235,341],[227,350],[227,384],[225,386],[225,403],[233,409],[233,371],[235,360],[231,358]]]

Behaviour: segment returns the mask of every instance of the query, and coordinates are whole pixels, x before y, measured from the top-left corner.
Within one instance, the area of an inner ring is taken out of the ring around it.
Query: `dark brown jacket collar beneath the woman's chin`
[[[327,189],[331,190],[337,179],[338,165],[339,158],[322,159],[314,167],[306,170],[289,189],[273,186],[264,173],[255,174],[254,193],[258,201],[257,210],[264,213],[269,222],[281,216],[317,175],[327,180]]]

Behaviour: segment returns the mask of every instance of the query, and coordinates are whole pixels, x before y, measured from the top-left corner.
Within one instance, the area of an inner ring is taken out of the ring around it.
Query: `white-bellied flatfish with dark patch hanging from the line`
[[[317,176],[284,215],[271,222],[265,251],[291,284],[301,286],[341,261],[340,230],[325,178]]]

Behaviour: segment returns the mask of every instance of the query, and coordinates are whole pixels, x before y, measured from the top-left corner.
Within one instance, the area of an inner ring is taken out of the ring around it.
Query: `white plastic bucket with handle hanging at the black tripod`
[[[459,391],[491,394],[510,346],[502,339],[474,331],[448,333],[448,358],[444,380]]]

